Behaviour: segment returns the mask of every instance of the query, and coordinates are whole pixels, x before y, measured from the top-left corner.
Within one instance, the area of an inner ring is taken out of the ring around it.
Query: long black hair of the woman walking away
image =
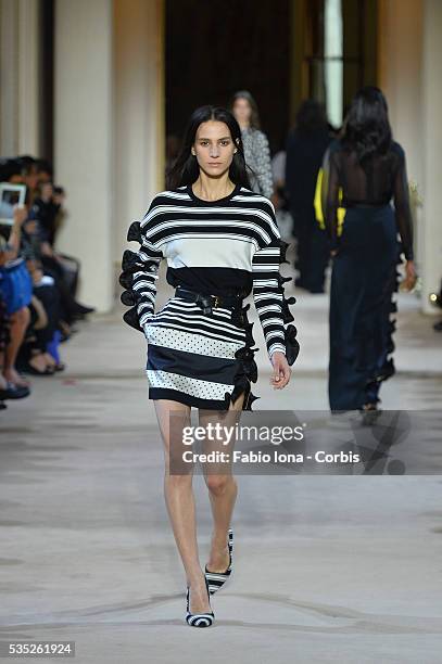
[[[366,86],[354,97],[342,129],[342,142],[355,150],[362,166],[376,154],[386,154],[392,131],[386,98],[379,88]]]

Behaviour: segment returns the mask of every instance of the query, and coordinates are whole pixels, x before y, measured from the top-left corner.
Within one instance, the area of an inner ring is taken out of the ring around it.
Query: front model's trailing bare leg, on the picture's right
[[[209,422],[219,422],[226,426],[235,426],[242,411],[244,395],[238,397],[233,405],[230,404],[229,411],[211,411],[200,409],[200,425],[206,426]],[[229,445],[220,442],[204,442],[204,452],[214,449],[230,452],[233,451],[235,439]],[[207,561],[207,570],[211,572],[225,572],[229,565],[228,529],[238,495],[238,485],[231,474],[230,464],[207,463],[204,468],[204,478],[209,488],[213,514],[213,533],[211,552]]]

